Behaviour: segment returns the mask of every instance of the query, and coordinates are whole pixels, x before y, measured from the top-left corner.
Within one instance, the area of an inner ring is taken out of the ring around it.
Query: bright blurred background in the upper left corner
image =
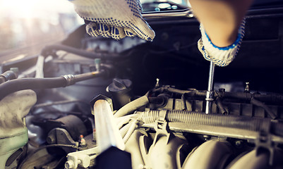
[[[0,0],[0,56],[38,54],[82,23],[66,0]]]

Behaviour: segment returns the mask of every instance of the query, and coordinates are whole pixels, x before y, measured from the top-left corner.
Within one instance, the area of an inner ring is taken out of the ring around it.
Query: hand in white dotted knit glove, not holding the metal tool
[[[86,31],[93,37],[122,39],[138,36],[152,41],[155,32],[141,15],[139,0],[69,0],[75,11],[85,20],[90,20]]]

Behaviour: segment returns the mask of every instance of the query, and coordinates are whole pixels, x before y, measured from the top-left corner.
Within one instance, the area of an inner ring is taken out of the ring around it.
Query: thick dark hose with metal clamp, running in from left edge
[[[66,87],[76,82],[87,80],[92,77],[99,77],[103,75],[102,72],[83,73],[80,75],[65,75],[61,77],[50,78],[23,78],[16,80],[9,80],[0,84],[0,100],[8,94],[24,89],[51,89],[57,87]]]

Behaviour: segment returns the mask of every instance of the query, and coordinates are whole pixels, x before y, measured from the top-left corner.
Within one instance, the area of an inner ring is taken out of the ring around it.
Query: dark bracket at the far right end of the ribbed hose
[[[260,154],[260,150],[265,149],[269,151],[269,165],[273,165],[273,159],[275,156],[275,144],[272,142],[272,134],[270,133],[270,120],[263,120],[263,123],[258,132],[258,137],[255,139],[255,151],[256,156]]]

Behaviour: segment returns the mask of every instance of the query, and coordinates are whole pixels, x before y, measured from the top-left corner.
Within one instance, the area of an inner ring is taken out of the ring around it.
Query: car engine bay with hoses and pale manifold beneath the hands
[[[248,11],[210,100],[191,9],[143,16],[152,42],[81,25],[1,63],[0,168],[283,168],[282,3]]]

